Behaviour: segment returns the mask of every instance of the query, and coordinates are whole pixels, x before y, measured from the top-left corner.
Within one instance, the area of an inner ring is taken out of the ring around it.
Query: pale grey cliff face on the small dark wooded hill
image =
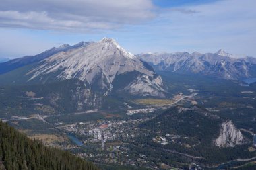
[[[222,123],[220,136],[215,140],[215,145],[218,147],[234,147],[238,144],[243,144],[245,138],[240,130],[237,130],[232,121]]]

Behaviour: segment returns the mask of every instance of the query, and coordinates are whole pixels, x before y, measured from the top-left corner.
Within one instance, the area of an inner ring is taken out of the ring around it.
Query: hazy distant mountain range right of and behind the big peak
[[[224,50],[201,54],[199,52],[146,53],[137,55],[156,71],[209,75],[223,79],[240,79],[256,75],[256,58],[237,58]]]

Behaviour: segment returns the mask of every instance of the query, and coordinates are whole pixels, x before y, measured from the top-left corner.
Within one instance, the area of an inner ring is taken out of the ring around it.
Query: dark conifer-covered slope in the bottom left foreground
[[[0,122],[0,169],[96,170],[92,163],[67,151],[43,146]]]

